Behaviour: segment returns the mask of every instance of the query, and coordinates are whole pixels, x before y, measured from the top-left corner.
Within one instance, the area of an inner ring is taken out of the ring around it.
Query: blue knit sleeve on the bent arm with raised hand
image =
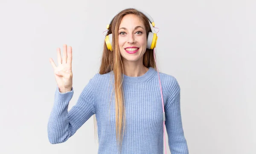
[[[96,114],[93,84],[90,79],[70,111],[68,105],[73,97],[73,87],[70,92],[61,93],[56,87],[55,99],[49,116],[47,132],[49,142],[63,143],[93,115]]]

